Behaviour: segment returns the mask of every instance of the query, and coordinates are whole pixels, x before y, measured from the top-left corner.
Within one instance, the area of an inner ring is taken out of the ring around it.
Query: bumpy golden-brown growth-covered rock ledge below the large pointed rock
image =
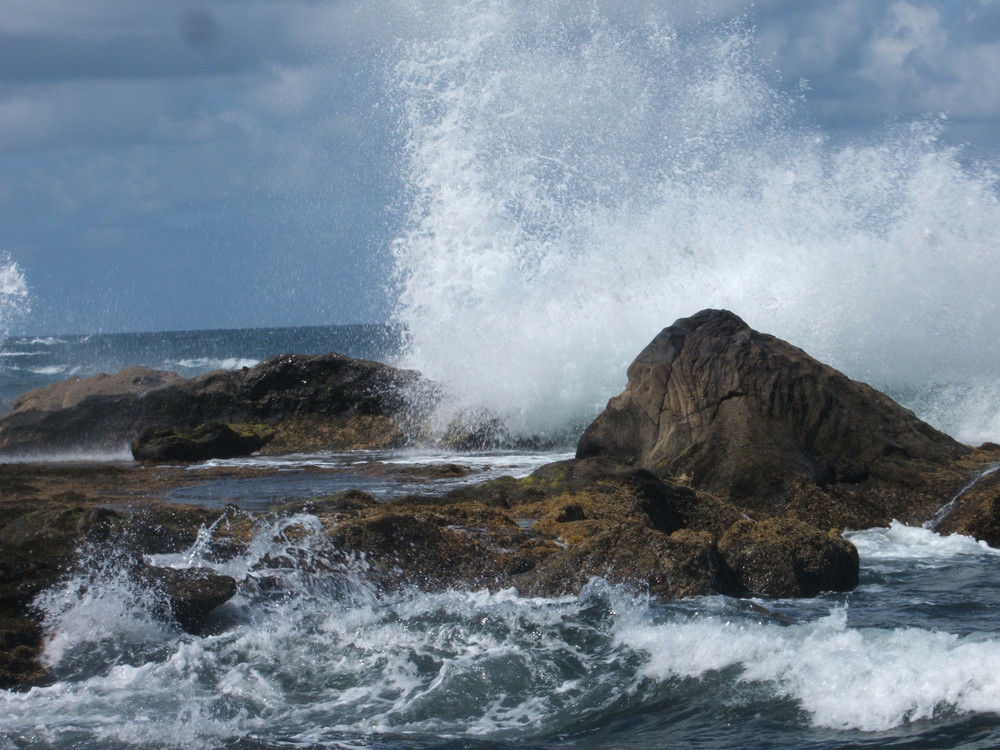
[[[600,577],[676,599],[814,596],[858,581],[857,552],[834,531],[747,520],[707,493],[604,459],[354,510],[337,514],[334,546],[389,587],[556,596]]]

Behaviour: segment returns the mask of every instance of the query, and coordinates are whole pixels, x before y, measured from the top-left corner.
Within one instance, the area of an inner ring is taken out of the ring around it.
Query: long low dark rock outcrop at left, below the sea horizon
[[[274,453],[385,448],[417,431],[414,392],[426,403],[435,398],[415,372],[339,354],[281,355],[190,380],[130,368],[20,397],[0,417],[0,453],[11,458],[122,451],[147,430],[205,433],[216,423],[273,429],[259,447]],[[207,443],[200,441],[205,453]],[[215,444],[230,451],[236,442]]]

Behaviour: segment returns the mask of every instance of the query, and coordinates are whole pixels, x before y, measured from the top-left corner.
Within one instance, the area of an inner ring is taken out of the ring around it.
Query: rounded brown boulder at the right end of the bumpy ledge
[[[737,521],[719,540],[719,555],[746,592],[816,596],[858,585],[858,551],[836,531],[782,518]]]

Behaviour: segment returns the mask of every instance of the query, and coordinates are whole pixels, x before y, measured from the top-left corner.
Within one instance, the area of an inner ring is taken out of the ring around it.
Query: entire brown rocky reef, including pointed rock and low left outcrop
[[[1000,472],[983,476],[1000,447],[961,445],[717,310],[664,329],[576,458],[530,476],[389,502],[350,490],[257,517],[163,502],[164,488],[192,480],[162,462],[418,440],[413,388],[436,393],[416,373],[328,355],[192,381],[133,369],[23,396],[0,419],[7,455],[68,450],[86,436],[135,441],[146,465],[0,465],[0,683],[44,681],[35,597],[101,554],[153,592],[161,616],[199,632],[248,582],[157,568],[149,556],[184,551],[213,528],[207,554],[225,562],[276,516],[313,519],[331,571],[363,559],[382,590],[539,596],[577,592],[592,577],[666,599],[845,591],[859,564],[841,531],[894,518],[1000,541]],[[259,561],[255,581],[269,564]]]

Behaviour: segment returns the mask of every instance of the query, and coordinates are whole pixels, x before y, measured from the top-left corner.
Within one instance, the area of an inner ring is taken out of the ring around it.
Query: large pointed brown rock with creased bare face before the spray
[[[705,310],[636,357],[624,393],[587,428],[577,456],[643,467],[759,509],[811,489],[864,487],[902,501],[912,489],[899,489],[902,475],[912,480],[969,450],[801,349]]]

